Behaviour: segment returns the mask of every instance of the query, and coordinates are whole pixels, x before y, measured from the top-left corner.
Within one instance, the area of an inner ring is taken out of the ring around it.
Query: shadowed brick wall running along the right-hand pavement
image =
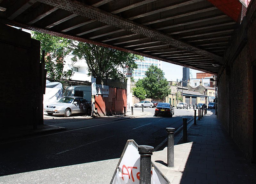
[[[227,65],[218,73],[218,119],[248,160],[253,159],[253,73],[256,60],[256,1],[248,7],[236,40],[231,44]],[[241,34],[248,39],[238,40]],[[254,128],[255,130],[255,128]],[[254,158],[255,159],[255,158]]]

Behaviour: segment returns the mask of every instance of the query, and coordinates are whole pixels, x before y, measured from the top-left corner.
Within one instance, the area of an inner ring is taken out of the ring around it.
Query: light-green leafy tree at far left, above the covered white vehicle
[[[72,70],[63,71],[64,58],[71,52],[72,40],[32,31],[32,38],[39,40],[41,51],[45,51],[47,76],[54,80],[70,79]]]

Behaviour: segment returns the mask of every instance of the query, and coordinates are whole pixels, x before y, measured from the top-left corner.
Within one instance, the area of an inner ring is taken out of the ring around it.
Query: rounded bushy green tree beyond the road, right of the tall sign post
[[[142,87],[147,92],[147,97],[152,99],[163,99],[171,93],[168,81],[164,78],[163,70],[151,65],[143,79],[138,80],[136,87]]]

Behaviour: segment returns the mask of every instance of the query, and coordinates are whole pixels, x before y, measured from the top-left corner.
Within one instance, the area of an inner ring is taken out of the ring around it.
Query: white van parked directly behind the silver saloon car
[[[83,97],[88,101],[92,101],[91,86],[68,86],[64,90],[63,96]]]

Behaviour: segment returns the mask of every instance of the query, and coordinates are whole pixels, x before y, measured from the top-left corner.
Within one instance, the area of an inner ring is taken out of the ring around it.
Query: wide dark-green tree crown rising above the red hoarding
[[[76,42],[73,46],[74,60],[85,59],[89,75],[96,77],[98,82],[103,79],[124,78],[120,69],[135,69],[135,60],[142,60],[142,56],[94,44]]]

